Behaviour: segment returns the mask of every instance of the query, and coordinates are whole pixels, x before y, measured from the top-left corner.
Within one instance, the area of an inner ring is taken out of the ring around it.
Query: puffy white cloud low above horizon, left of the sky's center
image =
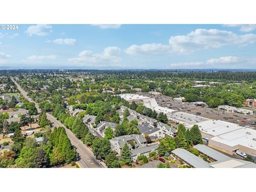
[[[117,62],[121,61],[121,49],[115,46],[106,47],[103,53],[93,54],[91,51],[82,51],[79,57],[70,58],[70,63],[80,63],[85,66],[121,66]]]

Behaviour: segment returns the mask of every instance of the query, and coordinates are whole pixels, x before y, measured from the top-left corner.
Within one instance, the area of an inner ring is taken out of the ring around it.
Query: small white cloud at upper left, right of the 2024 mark
[[[25,31],[29,36],[38,35],[38,36],[46,36],[52,33],[52,26],[50,25],[35,25],[29,26]]]

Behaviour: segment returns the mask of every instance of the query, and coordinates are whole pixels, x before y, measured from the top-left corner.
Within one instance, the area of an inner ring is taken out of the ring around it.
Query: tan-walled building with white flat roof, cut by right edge
[[[233,155],[237,150],[256,155],[256,130],[240,127],[209,139],[209,146]]]

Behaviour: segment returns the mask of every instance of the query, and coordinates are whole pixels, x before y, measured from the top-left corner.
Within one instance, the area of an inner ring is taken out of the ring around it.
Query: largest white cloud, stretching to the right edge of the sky
[[[169,39],[173,51],[185,54],[200,49],[253,43],[256,43],[256,34],[237,35],[232,31],[218,29],[196,29],[187,35],[171,36]]]

